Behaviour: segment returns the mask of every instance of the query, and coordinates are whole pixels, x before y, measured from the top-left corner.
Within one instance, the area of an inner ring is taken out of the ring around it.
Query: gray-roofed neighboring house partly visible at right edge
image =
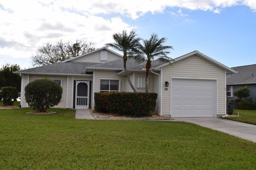
[[[256,64],[233,67],[236,74],[227,74],[227,99],[234,100],[234,92],[247,86],[250,89],[250,97],[256,98]]]

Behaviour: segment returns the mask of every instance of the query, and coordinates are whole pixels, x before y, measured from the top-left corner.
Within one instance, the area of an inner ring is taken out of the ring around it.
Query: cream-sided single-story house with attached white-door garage
[[[145,92],[145,63],[127,61],[138,92]],[[28,107],[24,88],[45,77],[63,89],[58,106],[93,108],[94,92],[132,92],[123,71],[122,55],[103,47],[69,60],[17,72],[22,77],[21,107]],[[216,117],[226,114],[226,73],[233,69],[194,51],[167,63],[153,61],[149,92],[158,94],[156,112],[172,117]]]

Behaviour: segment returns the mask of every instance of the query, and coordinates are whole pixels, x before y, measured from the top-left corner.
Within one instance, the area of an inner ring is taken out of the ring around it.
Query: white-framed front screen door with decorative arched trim
[[[89,108],[89,81],[76,81],[76,108]]]

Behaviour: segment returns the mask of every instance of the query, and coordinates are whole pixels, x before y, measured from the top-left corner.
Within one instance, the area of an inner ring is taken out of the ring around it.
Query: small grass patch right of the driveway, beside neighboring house
[[[229,120],[243,122],[243,123],[250,123],[256,125],[256,111],[251,110],[238,110],[236,109],[234,111],[234,115],[237,115],[239,113],[239,117],[226,117]]]

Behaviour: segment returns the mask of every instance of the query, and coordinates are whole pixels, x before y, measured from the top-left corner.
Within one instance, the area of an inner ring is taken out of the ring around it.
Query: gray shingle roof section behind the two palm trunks
[[[155,67],[158,65],[161,65],[165,62],[161,62],[159,60],[154,60],[151,63],[151,67]],[[136,60],[129,58],[126,63],[127,69],[144,69],[146,65],[146,62],[138,63]],[[98,65],[91,66],[90,68],[108,68],[108,69],[120,69],[123,70],[123,58],[111,62],[106,62]]]

